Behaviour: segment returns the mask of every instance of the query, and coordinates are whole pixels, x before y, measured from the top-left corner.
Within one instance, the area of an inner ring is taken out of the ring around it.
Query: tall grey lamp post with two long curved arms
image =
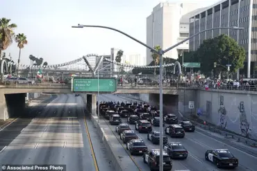
[[[138,39],[135,39],[134,37],[132,37],[131,35],[128,35],[124,32],[122,32],[121,30],[117,30],[116,28],[111,28],[111,27],[107,27],[107,26],[94,26],[94,25],[81,25],[78,24],[78,26],[72,26],[72,28],[84,28],[84,27],[92,27],[92,28],[106,28],[108,30],[114,30],[117,31],[119,33],[121,33],[122,35],[126,35],[126,37],[129,37],[131,39],[133,39],[135,42],[138,42],[139,44],[142,44],[142,46],[149,48],[151,50],[152,53],[157,53],[160,56],[160,80],[161,82],[163,82],[163,54],[166,53],[167,51],[172,50],[172,48],[175,48],[176,46],[179,46],[180,44],[183,44],[184,42],[187,42],[189,39],[192,39],[193,37],[204,33],[206,31],[209,30],[217,30],[217,29],[235,29],[235,30],[240,30],[240,29],[244,29],[244,28],[238,28],[238,27],[218,27],[218,28],[209,28],[206,30],[202,30],[199,33],[196,33],[186,39],[183,39],[181,42],[174,44],[173,46],[167,48],[166,50],[163,51],[163,49],[160,49],[160,51],[156,51],[154,48],[152,48],[151,46],[148,46],[147,44],[144,44],[143,42],[141,42]],[[160,125],[163,125],[163,84],[160,84]],[[163,127],[160,126],[160,163],[163,163]],[[160,168],[159,170],[163,170],[163,165],[160,164]]]

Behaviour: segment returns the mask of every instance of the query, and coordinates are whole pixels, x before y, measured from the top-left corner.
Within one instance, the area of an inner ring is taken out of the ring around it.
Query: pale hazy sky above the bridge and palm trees
[[[77,24],[110,26],[146,42],[147,17],[160,0],[1,0],[0,17],[17,24],[15,33],[24,33],[28,44],[22,49],[21,64],[30,64],[29,55],[48,64],[61,64],[95,53],[110,55],[110,48],[145,57],[146,48],[113,30],[72,28]],[[169,2],[174,2],[169,0]],[[182,2],[176,0],[176,2]],[[191,0],[202,7],[217,0]],[[171,45],[172,46],[172,45]],[[14,42],[6,55],[17,62]]]

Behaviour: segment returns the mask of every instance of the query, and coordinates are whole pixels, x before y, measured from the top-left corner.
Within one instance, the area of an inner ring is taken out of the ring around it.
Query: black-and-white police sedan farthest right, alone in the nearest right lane
[[[237,168],[238,159],[227,149],[207,150],[205,153],[206,161],[217,165],[217,168]]]

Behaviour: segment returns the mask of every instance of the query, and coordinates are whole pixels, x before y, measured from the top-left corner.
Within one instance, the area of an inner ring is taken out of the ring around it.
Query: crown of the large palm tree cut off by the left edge
[[[13,38],[15,37],[13,28],[17,28],[17,25],[10,24],[10,19],[0,19],[0,57],[2,51],[13,43]]]

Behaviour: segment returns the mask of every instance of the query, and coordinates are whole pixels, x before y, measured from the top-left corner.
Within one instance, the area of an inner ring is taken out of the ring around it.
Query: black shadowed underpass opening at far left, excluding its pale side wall
[[[9,118],[24,117],[26,93],[12,93],[5,94],[4,96],[6,98],[6,107]]]

